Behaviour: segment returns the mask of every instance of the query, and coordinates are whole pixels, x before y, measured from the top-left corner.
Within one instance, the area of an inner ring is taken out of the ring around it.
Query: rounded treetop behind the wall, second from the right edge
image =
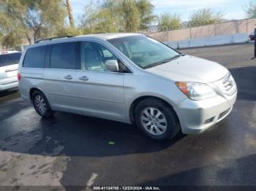
[[[222,12],[214,13],[211,9],[199,9],[194,12],[189,21],[189,26],[203,26],[213,23],[219,23],[222,20]]]

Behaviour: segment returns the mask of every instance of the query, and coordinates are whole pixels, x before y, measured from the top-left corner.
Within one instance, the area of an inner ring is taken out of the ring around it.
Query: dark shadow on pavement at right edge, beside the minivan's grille
[[[230,69],[238,86],[238,100],[256,101],[256,66]]]

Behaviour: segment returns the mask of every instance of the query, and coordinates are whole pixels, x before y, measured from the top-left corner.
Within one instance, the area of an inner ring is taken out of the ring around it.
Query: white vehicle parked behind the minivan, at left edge
[[[0,91],[18,87],[17,71],[21,52],[0,52]]]

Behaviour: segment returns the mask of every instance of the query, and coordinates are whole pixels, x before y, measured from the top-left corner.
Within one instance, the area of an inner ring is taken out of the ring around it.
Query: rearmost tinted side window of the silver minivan
[[[26,51],[23,67],[43,68],[45,63],[46,46],[33,47]]]

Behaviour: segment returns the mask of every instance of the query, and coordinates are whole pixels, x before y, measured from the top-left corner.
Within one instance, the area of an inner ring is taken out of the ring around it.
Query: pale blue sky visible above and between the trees
[[[74,16],[83,14],[84,7],[91,0],[71,0]],[[116,0],[118,1],[118,0]],[[183,21],[189,20],[190,15],[200,8],[211,8],[214,12],[223,12],[227,20],[243,19],[246,17],[244,7],[250,0],[151,0],[154,4],[154,14],[178,13]]]

